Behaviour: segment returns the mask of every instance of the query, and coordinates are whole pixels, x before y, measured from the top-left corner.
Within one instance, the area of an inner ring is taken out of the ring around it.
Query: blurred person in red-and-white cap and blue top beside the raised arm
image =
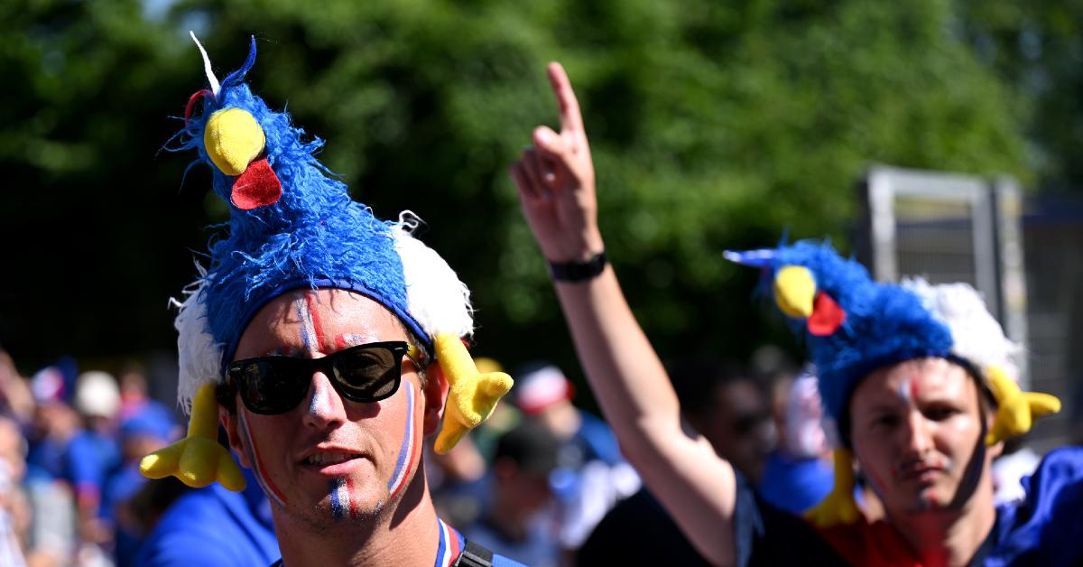
[[[533,362],[520,368],[514,379],[512,403],[560,442],[552,488],[560,508],[560,544],[570,554],[605,513],[639,490],[639,476],[609,425],[572,404],[575,389],[560,369]]]

